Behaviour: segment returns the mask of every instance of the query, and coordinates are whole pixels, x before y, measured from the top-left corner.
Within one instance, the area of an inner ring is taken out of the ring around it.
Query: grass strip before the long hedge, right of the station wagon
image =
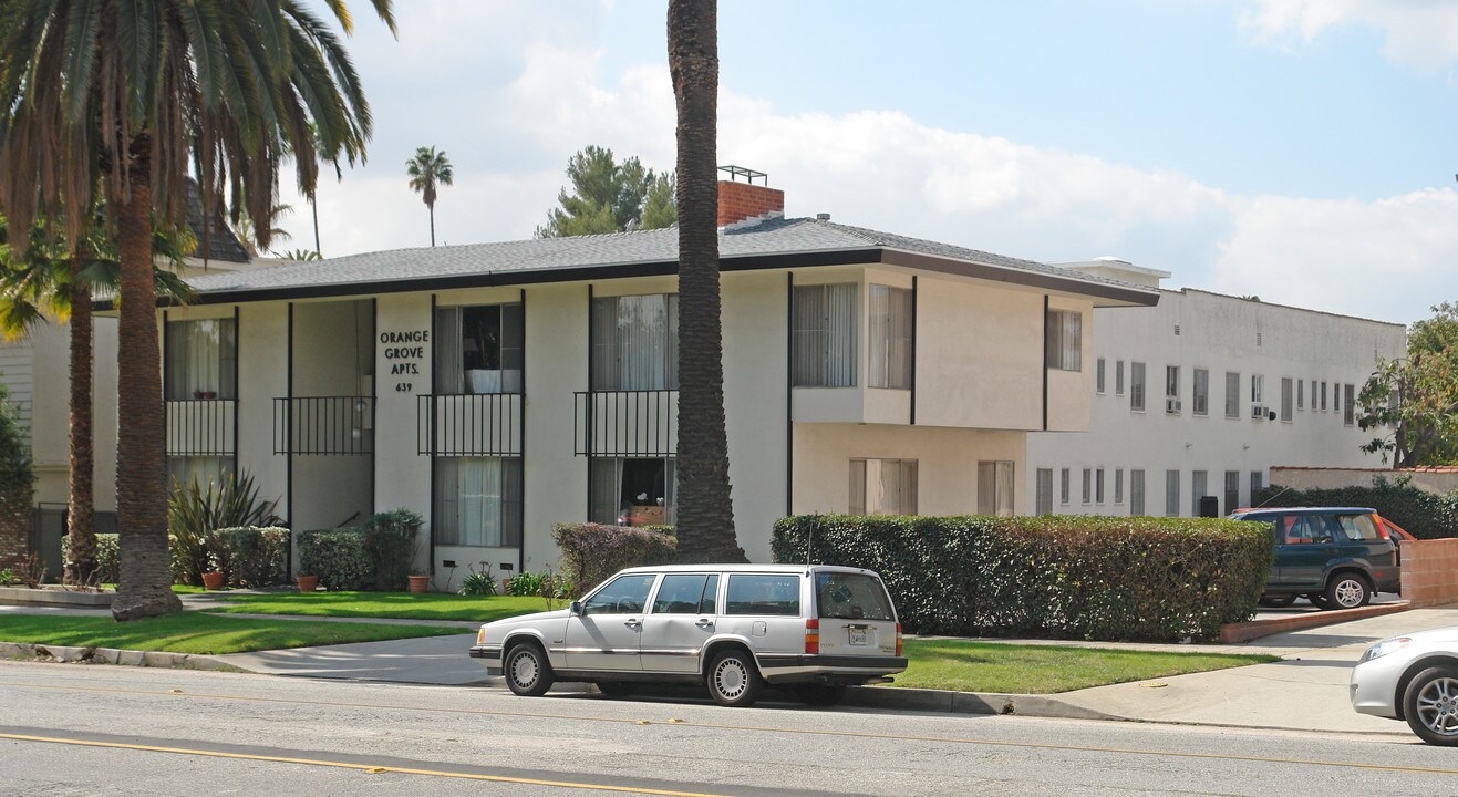
[[[907,640],[907,672],[895,686],[1048,695],[1150,678],[1277,661],[1276,656],[1156,653],[970,640]]]

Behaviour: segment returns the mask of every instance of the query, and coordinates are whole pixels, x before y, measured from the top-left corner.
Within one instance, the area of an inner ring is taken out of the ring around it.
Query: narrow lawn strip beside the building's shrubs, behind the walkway
[[[408,592],[305,592],[270,594],[210,593],[227,603],[206,612],[303,615],[316,618],[464,619],[490,622],[547,610],[541,597]],[[567,605],[554,603],[557,609]]]

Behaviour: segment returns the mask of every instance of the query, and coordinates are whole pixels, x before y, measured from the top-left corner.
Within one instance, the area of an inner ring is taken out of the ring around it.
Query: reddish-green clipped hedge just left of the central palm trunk
[[[561,549],[561,576],[573,586],[573,596],[625,567],[671,564],[678,555],[671,526],[557,523],[551,536]]]

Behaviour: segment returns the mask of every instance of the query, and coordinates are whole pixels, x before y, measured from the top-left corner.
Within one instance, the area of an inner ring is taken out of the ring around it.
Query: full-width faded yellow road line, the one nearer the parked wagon
[[[799,736],[831,736],[831,737],[847,737],[847,739],[879,739],[891,742],[932,742],[942,745],[984,745],[989,747],[1022,747],[1022,749],[1041,749],[1041,750],[1067,750],[1067,752],[1083,752],[1083,753],[1120,753],[1120,755],[1142,755],[1142,756],[1169,756],[1169,758],[1191,758],[1191,759],[1212,759],[1212,761],[1247,761],[1254,763],[1305,763],[1309,766],[1340,766],[1349,769],[1375,769],[1382,772],[1411,772],[1411,774],[1427,774],[1427,775],[1458,775],[1458,769],[1445,769],[1436,766],[1400,766],[1387,763],[1366,763],[1357,761],[1321,761],[1308,758],[1270,758],[1270,756],[1247,756],[1233,753],[1200,753],[1200,752],[1182,752],[1182,750],[1145,750],[1139,747],[1095,747],[1085,745],[1054,745],[1045,742],[1003,742],[997,739],[972,739],[972,737],[955,737],[955,736],[910,736],[898,733],[870,733],[870,731],[854,731],[854,730],[816,730],[816,729],[786,729],[786,727],[767,727],[767,726],[735,726],[722,723],[691,723],[691,721],[646,721],[642,718],[617,718],[617,717],[590,717],[579,714],[538,714],[531,711],[491,711],[484,708],[434,708],[423,705],[398,705],[398,704],[367,704],[367,702],[341,702],[341,701],[311,701],[297,698],[262,698],[252,695],[216,695],[206,692],[182,692],[182,691],[155,691],[155,689],[117,689],[108,686],[51,686],[51,685],[35,685],[35,683],[7,683],[0,682],[6,686],[28,688],[28,689],[47,689],[58,692],[105,692],[118,695],[160,695],[172,698],[201,698],[201,699],[225,699],[225,701],[251,701],[251,702],[283,702],[283,704],[297,704],[297,705],[327,705],[332,708],[369,708],[369,710],[397,710],[397,711],[430,711],[442,714],[475,714],[483,717],[522,717],[532,720],[569,720],[577,723],[614,723],[614,724],[665,724],[672,727],[694,727],[694,729],[712,729],[712,730],[736,730],[748,733],[781,733],[781,734],[799,734]]]

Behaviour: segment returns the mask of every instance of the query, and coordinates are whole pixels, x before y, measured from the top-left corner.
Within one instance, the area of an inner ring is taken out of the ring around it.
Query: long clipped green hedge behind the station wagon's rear
[[[1213,640],[1255,615],[1274,551],[1257,523],[1185,517],[798,516],[777,562],[881,573],[920,634]]]

